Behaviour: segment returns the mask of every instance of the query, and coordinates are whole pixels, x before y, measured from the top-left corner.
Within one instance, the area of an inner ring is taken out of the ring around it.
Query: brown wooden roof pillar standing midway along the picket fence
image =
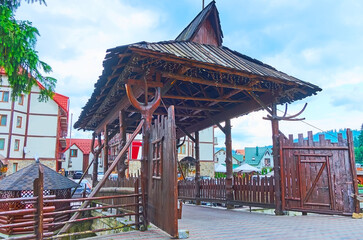
[[[231,120],[226,120],[226,125],[224,127],[225,135],[226,135],[226,201],[227,208],[233,208],[233,205],[229,204],[229,201],[233,201],[233,190],[232,190],[232,181],[233,181],[233,166],[232,166],[232,133],[231,133]]]

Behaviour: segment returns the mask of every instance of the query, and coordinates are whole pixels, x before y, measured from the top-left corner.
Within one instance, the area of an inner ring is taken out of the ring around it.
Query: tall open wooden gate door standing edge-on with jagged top
[[[172,237],[178,236],[178,185],[174,106],[150,131],[147,218]]]

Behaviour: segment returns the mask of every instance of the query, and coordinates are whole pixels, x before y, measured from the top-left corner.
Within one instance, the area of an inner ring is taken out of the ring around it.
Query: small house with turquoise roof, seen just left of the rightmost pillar
[[[269,147],[246,147],[245,163],[262,168],[273,168],[272,149]]]

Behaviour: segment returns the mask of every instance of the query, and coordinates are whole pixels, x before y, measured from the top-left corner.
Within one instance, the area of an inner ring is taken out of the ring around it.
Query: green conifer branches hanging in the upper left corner
[[[45,4],[44,0],[38,2]],[[57,80],[44,75],[50,73],[52,68],[39,59],[35,50],[38,30],[29,21],[15,19],[14,12],[20,3],[20,0],[0,0],[0,67],[8,76],[13,99],[22,93],[29,93],[38,80],[44,86],[40,91],[40,100],[47,100],[53,96]]]

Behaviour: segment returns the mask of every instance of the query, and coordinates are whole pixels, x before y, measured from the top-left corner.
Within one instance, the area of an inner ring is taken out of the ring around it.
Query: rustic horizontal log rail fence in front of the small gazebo
[[[141,214],[141,194],[137,178],[127,180],[128,190],[126,194],[116,191],[116,193],[108,194],[107,196],[56,199],[55,195],[43,196],[37,194],[43,193],[43,180],[40,180],[43,177],[41,171],[40,169],[40,177],[34,181],[34,197],[0,199],[0,204],[21,202],[31,206],[26,209],[0,211],[0,230],[2,233],[10,235],[8,239],[56,239],[114,230],[115,227],[100,228],[56,235],[56,230],[65,224],[104,218],[129,217],[130,219],[133,217],[133,221],[128,219],[127,224],[120,224],[116,228],[121,229],[134,226],[135,229],[138,229]],[[100,195],[102,195],[102,191]],[[91,204],[87,208],[78,209],[84,201],[89,201]],[[111,204],[107,204],[107,201],[110,201]],[[57,209],[55,206],[59,203],[69,203],[70,207]],[[105,210],[110,211],[111,214],[97,214],[96,216],[91,214],[92,211],[101,212]],[[70,216],[74,213],[82,213],[82,215],[77,219],[69,220]],[[17,234],[21,234],[21,236],[13,236]]]

